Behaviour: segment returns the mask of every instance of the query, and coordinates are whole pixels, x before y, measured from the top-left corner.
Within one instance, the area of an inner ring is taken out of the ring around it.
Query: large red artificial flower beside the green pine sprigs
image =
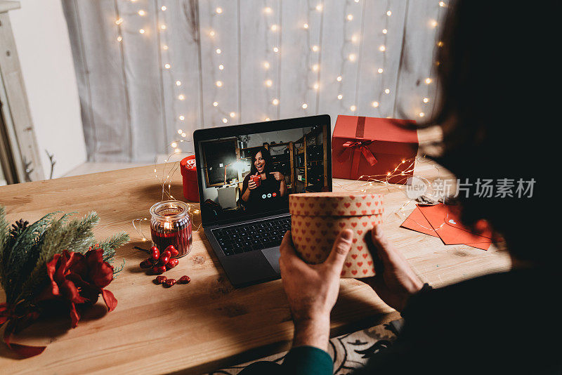
[[[53,260],[47,263],[47,274],[51,284],[41,299],[68,301],[72,328],[80,320],[77,304],[96,303],[101,294],[108,311],[117,306],[112,292],[104,289],[113,279],[113,267],[103,261],[102,249],[91,249],[85,256],[66,250],[63,254],[55,254]]]

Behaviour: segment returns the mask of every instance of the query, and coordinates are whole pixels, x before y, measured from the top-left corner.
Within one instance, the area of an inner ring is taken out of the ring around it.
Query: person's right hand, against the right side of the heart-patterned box
[[[371,230],[371,239],[377,251],[377,256],[373,254],[373,258],[382,263],[382,274],[360,280],[369,284],[384,303],[402,311],[407,299],[417,293],[424,283],[410,268],[406,258],[388,242],[380,225]]]

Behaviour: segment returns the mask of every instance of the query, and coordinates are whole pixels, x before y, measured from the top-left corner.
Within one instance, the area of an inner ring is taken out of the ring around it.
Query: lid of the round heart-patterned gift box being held
[[[289,195],[289,212],[297,216],[382,215],[383,196],[364,192],[307,192]]]

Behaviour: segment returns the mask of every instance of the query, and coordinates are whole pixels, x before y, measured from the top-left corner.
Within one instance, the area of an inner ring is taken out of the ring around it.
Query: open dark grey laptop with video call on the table
[[[280,277],[289,195],[332,191],[328,115],[193,133],[204,233],[235,287]]]

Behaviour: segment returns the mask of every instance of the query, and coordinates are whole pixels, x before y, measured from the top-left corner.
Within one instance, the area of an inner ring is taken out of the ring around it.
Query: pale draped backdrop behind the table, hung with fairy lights
[[[192,152],[192,131],[436,103],[447,1],[63,0],[90,161]]]

